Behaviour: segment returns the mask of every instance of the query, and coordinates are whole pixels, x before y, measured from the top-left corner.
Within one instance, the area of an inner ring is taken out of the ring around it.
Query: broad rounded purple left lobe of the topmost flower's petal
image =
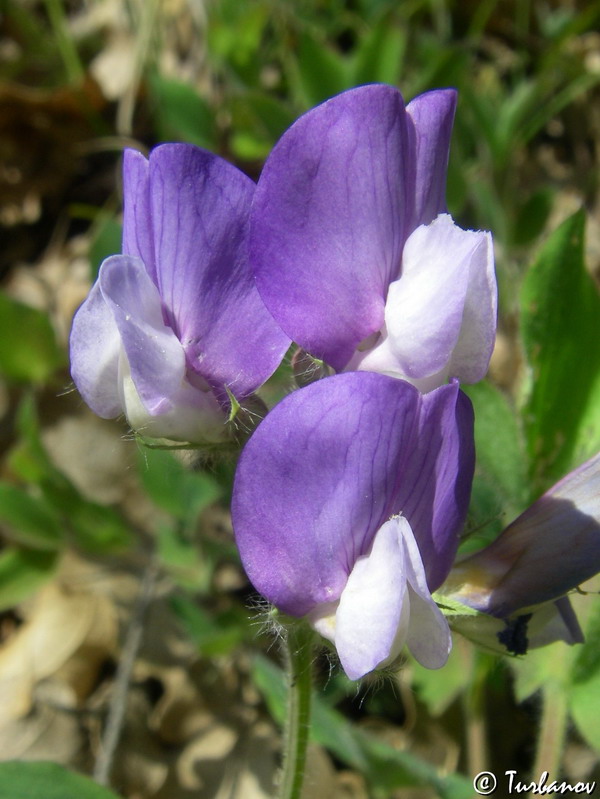
[[[338,370],[381,328],[399,274],[413,215],[409,146],[399,92],[362,86],[300,117],[258,183],[250,247],[261,296],[291,338]]]

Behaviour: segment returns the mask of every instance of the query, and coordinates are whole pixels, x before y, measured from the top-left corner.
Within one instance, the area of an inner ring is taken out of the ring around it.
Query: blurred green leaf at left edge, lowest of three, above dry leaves
[[[54,576],[57,561],[55,552],[16,547],[3,549],[0,552],[0,611],[18,605],[41,588]]]

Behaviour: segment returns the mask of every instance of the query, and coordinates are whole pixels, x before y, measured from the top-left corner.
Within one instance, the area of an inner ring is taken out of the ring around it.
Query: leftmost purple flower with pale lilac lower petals
[[[125,152],[123,254],[102,264],[71,333],[72,375],[99,416],[180,441],[226,435],[289,340],[248,267],[254,183],[186,144]]]

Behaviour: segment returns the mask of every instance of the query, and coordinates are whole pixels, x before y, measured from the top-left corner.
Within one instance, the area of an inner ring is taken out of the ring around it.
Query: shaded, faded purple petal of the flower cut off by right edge
[[[600,453],[554,485],[492,544],[458,563],[444,593],[508,618],[554,602],[598,572]]]

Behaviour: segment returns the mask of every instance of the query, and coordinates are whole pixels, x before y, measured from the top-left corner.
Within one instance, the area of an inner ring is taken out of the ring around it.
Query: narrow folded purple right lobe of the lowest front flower
[[[426,394],[417,451],[400,483],[396,506],[417,540],[430,591],[442,584],[452,566],[474,467],[471,401],[457,382]]]

